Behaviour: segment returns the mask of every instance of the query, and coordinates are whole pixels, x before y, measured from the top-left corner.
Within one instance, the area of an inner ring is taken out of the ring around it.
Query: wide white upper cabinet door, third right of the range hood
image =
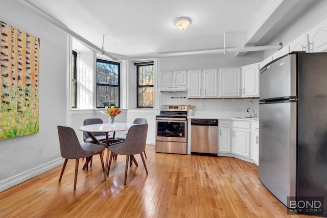
[[[219,96],[237,97],[240,94],[240,68],[221,68],[219,73]]]

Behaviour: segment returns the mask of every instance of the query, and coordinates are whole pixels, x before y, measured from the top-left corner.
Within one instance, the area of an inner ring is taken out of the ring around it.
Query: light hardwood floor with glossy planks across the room
[[[313,217],[287,215],[258,179],[258,167],[231,157],[155,153],[147,145],[146,175],[141,157],[128,170],[119,155],[103,182],[99,156],[82,170],[77,189],[75,161],[0,193],[0,217]]]

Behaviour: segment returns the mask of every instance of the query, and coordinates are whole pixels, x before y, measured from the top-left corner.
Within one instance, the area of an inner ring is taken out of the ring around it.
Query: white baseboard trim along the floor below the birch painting
[[[3,181],[0,181],[0,192],[4,191],[8,188],[11,188],[15,185],[18,185],[19,183],[25,182],[33,177],[36,177],[46,171],[49,171],[50,169],[59,166],[63,163],[63,158],[58,158],[53,161],[50,161],[48,163],[45,163],[43,165],[37,166],[33,169],[30,169],[24,173],[15,175],[13,177],[10,177],[8,179],[5,179]]]

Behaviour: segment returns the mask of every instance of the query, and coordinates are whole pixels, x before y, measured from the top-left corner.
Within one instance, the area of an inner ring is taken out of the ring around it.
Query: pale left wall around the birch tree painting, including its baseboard
[[[61,164],[57,125],[66,125],[67,35],[21,4],[1,2],[0,20],[40,38],[38,134],[0,140],[0,191]]]

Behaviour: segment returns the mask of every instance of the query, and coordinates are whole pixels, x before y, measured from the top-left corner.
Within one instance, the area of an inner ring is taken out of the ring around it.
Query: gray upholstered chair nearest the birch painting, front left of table
[[[102,163],[102,168],[104,169],[102,151],[105,149],[103,146],[93,143],[80,143],[75,131],[71,127],[58,126],[58,136],[60,144],[61,157],[65,158],[63,163],[59,182],[61,181],[63,172],[65,170],[68,159],[76,159],[75,162],[75,180],[74,180],[74,190],[76,190],[77,182],[77,172],[79,159],[85,157],[86,164],[90,157],[94,154],[100,154],[100,160]]]

